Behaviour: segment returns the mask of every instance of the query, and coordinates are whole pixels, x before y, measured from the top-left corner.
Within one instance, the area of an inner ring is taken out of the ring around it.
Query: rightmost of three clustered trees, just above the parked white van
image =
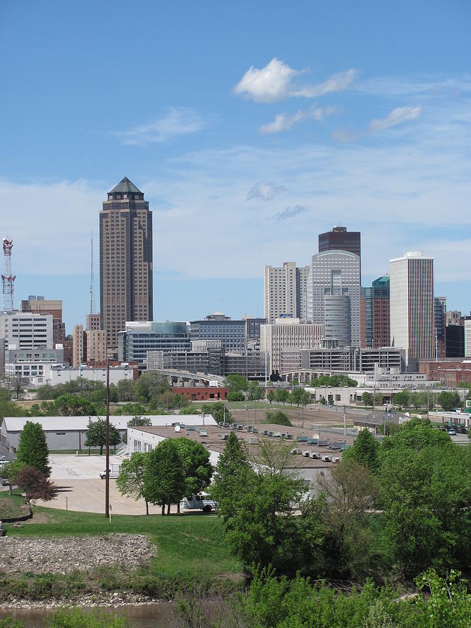
[[[185,476],[185,495],[200,493],[211,481],[213,467],[209,461],[209,451],[200,442],[188,438],[173,439]],[[180,511],[180,502],[178,502]]]

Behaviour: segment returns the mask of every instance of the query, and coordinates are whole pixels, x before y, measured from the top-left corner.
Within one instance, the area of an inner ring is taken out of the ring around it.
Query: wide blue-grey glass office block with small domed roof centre
[[[220,340],[225,351],[244,353],[246,321],[232,320],[222,312],[215,312],[204,320],[190,321],[190,338],[192,341]]]

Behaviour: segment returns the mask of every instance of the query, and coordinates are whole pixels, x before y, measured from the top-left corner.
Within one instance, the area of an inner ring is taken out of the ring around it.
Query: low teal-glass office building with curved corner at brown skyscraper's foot
[[[118,359],[146,364],[149,351],[190,350],[190,326],[184,321],[128,321],[118,334]]]

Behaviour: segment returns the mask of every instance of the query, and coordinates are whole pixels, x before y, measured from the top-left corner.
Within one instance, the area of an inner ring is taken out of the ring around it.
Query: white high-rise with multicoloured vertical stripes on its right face
[[[405,349],[406,364],[435,355],[433,259],[409,251],[389,260],[391,347]]]

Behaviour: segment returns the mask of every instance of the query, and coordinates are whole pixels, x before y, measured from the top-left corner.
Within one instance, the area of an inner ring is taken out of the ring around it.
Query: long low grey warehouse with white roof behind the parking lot
[[[87,449],[87,428],[89,421],[106,417],[5,417],[0,426],[0,444],[2,447],[16,451],[20,442],[20,433],[27,421],[39,423],[46,435],[47,447],[51,451],[59,449]],[[126,435],[128,422],[133,415],[111,416],[110,424],[119,431],[121,438]],[[150,419],[153,426],[172,426],[185,422],[187,425],[216,425],[211,415],[204,414],[147,414],[142,418]]]

